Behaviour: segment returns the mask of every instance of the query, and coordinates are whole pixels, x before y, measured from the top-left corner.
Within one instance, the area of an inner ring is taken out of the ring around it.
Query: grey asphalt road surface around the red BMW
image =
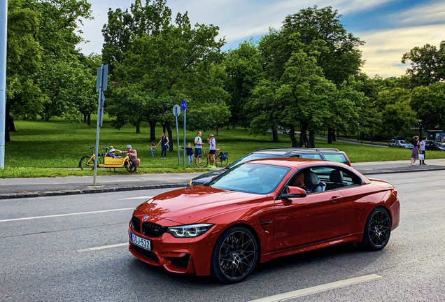
[[[278,301],[271,296],[302,289],[288,301],[445,301],[445,171],[376,177],[402,204],[384,250],[286,257],[236,285],[172,275],[129,254],[132,209],[167,189],[0,200],[0,301]]]

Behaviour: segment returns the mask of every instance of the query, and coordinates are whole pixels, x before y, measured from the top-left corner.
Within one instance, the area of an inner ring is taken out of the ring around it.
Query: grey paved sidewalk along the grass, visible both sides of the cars
[[[427,166],[418,166],[418,164],[411,166],[409,162],[409,160],[366,162],[353,164],[353,168],[364,175],[445,170],[445,159],[427,159]],[[0,199],[185,187],[192,178],[200,174],[171,173],[97,176],[97,185],[95,187],[92,186],[92,176],[6,178],[0,179]]]

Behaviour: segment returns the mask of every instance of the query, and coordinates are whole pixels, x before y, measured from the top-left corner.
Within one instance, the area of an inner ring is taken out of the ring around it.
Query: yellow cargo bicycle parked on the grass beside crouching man
[[[85,169],[94,169],[94,160],[96,159],[96,155],[94,154],[94,147],[88,147],[91,150],[91,155],[85,155],[79,161],[79,168],[82,170]],[[105,150],[105,153],[99,153],[97,157],[97,168],[126,168],[129,173],[133,173],[136,171],[136,162],[131,159],[128,154],[126,157],[109,157],[106,156],[109,147],[102,147]]]

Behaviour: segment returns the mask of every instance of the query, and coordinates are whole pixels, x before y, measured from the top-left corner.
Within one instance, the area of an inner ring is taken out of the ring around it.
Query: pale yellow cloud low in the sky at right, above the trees
[[[369,76],[378,74],[382,77],[405,74],[409,64],[400,61],[402,55],[411,48],[422,47],[427,43],[438,46],[445,40],[442,24],[364,32],[357,36],[366,42],[360,48],[362,58],[366,60],[362,70]]]

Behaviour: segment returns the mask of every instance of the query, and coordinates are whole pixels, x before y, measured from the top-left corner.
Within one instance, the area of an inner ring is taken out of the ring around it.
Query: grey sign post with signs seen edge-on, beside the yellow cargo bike
[[[97,101],[97,128],[96,128],[96,158],[94,159],[94,177],[93,185],[96,185],[97,177],[97,160],[99,158],[99,131],[102,126],[102,121],[104,120],[104,103],[105,96],[104,91],[108,87],[108,64],[101,66],[97,69],[97,80],[96,80],[96,92],[99,92],[99,99]]]

